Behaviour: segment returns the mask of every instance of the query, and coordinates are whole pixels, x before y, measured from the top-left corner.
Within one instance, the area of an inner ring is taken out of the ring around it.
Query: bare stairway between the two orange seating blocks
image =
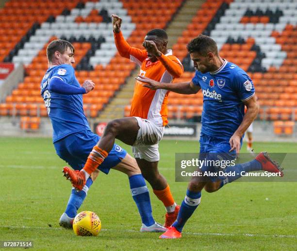
[[[179,12],[174,19],[170,22],[166,28],[166,32],[169,36],[168,47],[171,47],[176,43],[182,31],[191,22],[192,18],[196,15],[197,10],[200,8],[204,0],[187,0],[185,1]],[[120,90],[116,97],[110,102],[110,104],[99,114],[100,121],[108,121],[116,118],[122,118],[124,116],[125,106],[130,104],[132,99],[135,76],[138,74],[139,68],[136,68],[131,77],[127,79],[127,84]]]

